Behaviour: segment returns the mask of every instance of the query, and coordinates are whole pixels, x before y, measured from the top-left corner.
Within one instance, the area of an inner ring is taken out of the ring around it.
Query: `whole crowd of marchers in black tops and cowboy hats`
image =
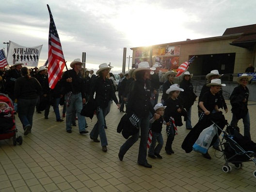
[[[86,134],[88,125],[81,111],[84,105],[90,102],[94,103],[93,112],[96,112],[97,118],[90,132],[90,138],[96,143],[101,143],[102,151],[107,152],[105,117],[114,101],[120,112],[132,114],[133,118],[137,119],[135,124],[138,128],[138,131],[120,147],[119,159],[122,161],[129,148],[140,138],[137,162],[139,165],[151,168],[147,156],[152,159],[162,159],[160,151],[164,144],[161,134],[163,125],[166,126],[167,132],[164,149],[168,155],[175,153],[172,144],[177,133],[176,127],[183,125],[182,117],[186,122],[186,128],[192,129],[192,105],[197,96],[194,94],[191,82],[193,74],[189,71],[181,75],[180,85],[174,83],[176,72],[173,70],[166,72],[164,74],[166,81],[161,82],[159,78],[161,66],[155,64],[150,68],[148,62],[141,62],[137,68],[119,74],[117,98],[116,84],[110,73],[111,67],[106,63],[99,65],[95,75],[93,70],[82,68],[82,63],[75,60],[70,64],[71,69],[64,72],[54,89],[49,88],[47,67],[40,66],[39,69],[35,67],[32,70],[22,65],[16,62],[12,69],[0,70],[0,93],[7,94],[14,101],[14,110],[18,113],[24,135],[32,131],[34,111],[36,110],[37,113],[44,111],[45,119],[48,119],[50,106],[53,107],[57,122],[63,122],[62,118],[65,117],[67,133],[72,133],[72,126],[76,126],[77,120],[80,134]],[[198,121],[206,115],[219,112],[220,109],[228,112],[222,95],[222,86],[225,84],[221,82],[221,77],[218,70],[212,70],[206,75],[207,83],[198,98]],[[251,79],[252,77],[246,73],[237,78],[239,86],[230,96],[233,113],[230,124],[236,127],[238,121],[242,119],[244,136],[248,140],[251,140],[251,136],[247,84]],[[158,102],[160,86],[163,93]],[[59,105],[64,105],[62,117]],[[2,111],[4,107],[2,106]],[[152,131],[152,142],[147,152],[149,130]],[[216,140],[213,148],[220,150],[219,140]],[[211,159],[208,152],[203,156]]]

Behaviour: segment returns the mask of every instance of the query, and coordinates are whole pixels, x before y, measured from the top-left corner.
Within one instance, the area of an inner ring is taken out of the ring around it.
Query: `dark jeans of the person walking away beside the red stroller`
[[[33,114],[37,98],[34,99],[18,99],[18,117],[22,123],[23,128],[27,125],[33,124]]]

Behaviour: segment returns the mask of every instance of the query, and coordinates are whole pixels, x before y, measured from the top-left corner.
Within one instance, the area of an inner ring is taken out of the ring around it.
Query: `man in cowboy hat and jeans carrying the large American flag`
[[[66,102],[66,132],[72,133],[72,112],[77,111],[78,128],[80,134],[88,133],[85,130],[85,118],[80,114],[82,105],[85,104],[85,90],[84,81],[82,80],[80,70],[82,63],[78,60],[71,62],[70,67],[72,69],[65,71],[61,82],[65,89]]]

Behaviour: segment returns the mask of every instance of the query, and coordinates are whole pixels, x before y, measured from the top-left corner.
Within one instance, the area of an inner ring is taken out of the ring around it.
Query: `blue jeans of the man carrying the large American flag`
[[[68,98],[67,93],[65,95],[65,100]],[[72,123],[72,112],[73,110],[77,110],[77,116],[78,116],[78,128],[79,131],[85,130],[85,118],[80,114],[82,110],[82,96],[81,93],[79,94],[72,94],[71,96],[71,102],[69,106],[66,106],[66,130],[71,130],[71,123]]]

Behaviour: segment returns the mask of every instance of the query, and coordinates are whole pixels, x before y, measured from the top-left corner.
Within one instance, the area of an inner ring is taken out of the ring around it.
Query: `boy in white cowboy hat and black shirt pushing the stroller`
[[[209,115],[212,112],[219,112],[218,103],[221,102],[221,99],[218,96],[218,93],[221,90],[221,87],[226,85],[222,84],[220,79],[213,79],[206,86],[210,87],[210,90],[206,92],[199,101],[199,121],[202,120],[205,115]],[[211,159],[208,152],[203,154],[203,156],[206,159]]]

